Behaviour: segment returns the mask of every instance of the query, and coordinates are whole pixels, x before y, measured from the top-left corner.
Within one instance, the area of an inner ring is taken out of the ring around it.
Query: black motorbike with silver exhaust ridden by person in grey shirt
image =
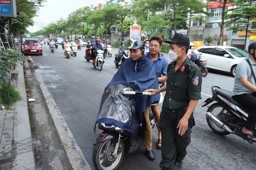
[[[233,133],[249,143],[253,143],[242,132],[248,117],[246,108],[240,106],[232,98],[230,91],[218,86],[212,86],[211,90],[212,98],[206,99],[202,107],[207,106],[211,102],[217,102],[209,106],[206,113],[206,120],[212,131],[218,135]],[[256,127],[254,127],[254,133],[256,133]]]

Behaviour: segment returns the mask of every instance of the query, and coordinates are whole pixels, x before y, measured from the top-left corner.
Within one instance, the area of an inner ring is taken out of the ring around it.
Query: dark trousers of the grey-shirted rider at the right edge
[[[233,96],[233,99],[241,106],[249,109],[245,128],[251,131],[254,130],[256,124],[256,93],[236,95]]]

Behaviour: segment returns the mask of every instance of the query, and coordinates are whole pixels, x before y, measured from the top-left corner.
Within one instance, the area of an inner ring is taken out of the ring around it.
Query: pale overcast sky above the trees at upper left
[[[52,21],[60,20],[60,18],[67,18],[69,14],[83,6],[98,6],[99,2],[105,0],[47,0],[42,7],[39,7],[37,12],[38,17],[34,17],[33,21],[43,21],[50,23]],[[35,27],[29,27],[28,31],[33,31]],[[36,31],[36,30],[34,30]],[[33,32],[34,32],[33,31]]]

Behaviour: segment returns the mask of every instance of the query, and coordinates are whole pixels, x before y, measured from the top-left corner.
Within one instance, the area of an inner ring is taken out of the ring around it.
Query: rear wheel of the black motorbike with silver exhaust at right
[[[230,121],[232,120],[232,119],[230,119],[230,117],[231,117],[230,113],[220,103],[212,104],[207,109],[207,112],[211,112],[215,117],[217,117],[221,121],[223,121],[223,119],[225,119],[227,117],[229,118]],[[212,129],[212,131],[214,131],[214,133],[217,133],[218,135],[229,135],[230,134],[229,132],[218,127],[213,121],[211,121],[207,117],[206,117],[206,120],[207,120],[209,127]],[[232,123],[232,122],[229,122],[229,123]],[[230,127],[230,129],[232,129],[234,131],[234,128]]]

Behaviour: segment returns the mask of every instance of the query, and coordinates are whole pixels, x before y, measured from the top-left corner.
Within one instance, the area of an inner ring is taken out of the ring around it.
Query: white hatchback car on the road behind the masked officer
[[[237,64],[248,56],[246,52],[228,46],[204,46],[198,47],[197,51],[202,53],[202,59],[207,60],[207,68],[230,72],[233,77]]]

